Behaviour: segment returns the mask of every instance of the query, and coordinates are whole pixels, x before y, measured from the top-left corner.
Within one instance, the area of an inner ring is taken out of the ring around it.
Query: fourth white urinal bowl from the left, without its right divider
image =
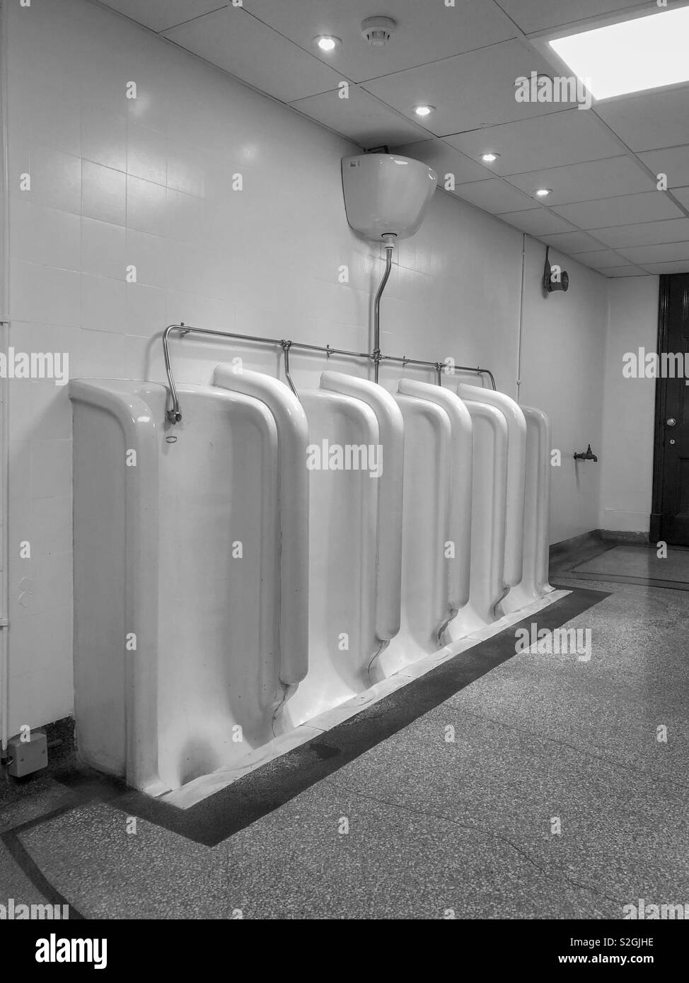
[[[447,625],[448,643],[495,621],[506,593],[507,421],[488,403],[463,402],[473,427],[469,603]]]

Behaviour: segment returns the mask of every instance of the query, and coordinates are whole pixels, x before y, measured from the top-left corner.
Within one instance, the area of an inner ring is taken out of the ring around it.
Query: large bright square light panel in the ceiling
[[[597,99],[689,82],[689,7],[549,41]]]

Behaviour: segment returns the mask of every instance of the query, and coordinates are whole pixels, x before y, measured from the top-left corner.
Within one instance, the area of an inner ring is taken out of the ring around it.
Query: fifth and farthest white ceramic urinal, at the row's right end
[[[550,424],[542,410],[522,406],[527,426],[526,492],[524,501],[524,567],[521,582],[503,602],[506,612],[517,611],[546,594],[549,563]]]

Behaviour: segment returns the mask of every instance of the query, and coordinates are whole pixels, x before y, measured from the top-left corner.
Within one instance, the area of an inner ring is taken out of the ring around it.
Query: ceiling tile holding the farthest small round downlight
[[[515,174],[508,180],[529,194],[533,194],[537,188],[552,189],[552,194],[547,197],[550,207],[656,189],[648,174],[627,156]]]

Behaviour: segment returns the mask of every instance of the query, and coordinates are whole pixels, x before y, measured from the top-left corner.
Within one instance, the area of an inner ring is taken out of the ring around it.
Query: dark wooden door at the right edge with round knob
[[[660,355],[689,352],[689,273],[660,277],[658,340]],[[689,546],[689,378],[677,375],[657,383],[651,535]]]

